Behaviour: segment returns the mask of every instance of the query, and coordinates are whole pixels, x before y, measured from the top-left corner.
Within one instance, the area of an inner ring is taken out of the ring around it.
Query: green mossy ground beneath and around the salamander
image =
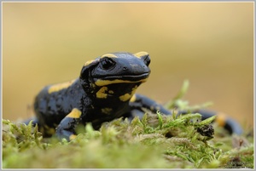
[[[145,111],[142,119],[122,118],[94,130],[78,128],[76,139],[44,138],[32,124],[3,119],[3,168],[254,168],[253,134],[230,135],[198,113],[177,116],[175,106],[188,88],[166,105],[172,116]]]

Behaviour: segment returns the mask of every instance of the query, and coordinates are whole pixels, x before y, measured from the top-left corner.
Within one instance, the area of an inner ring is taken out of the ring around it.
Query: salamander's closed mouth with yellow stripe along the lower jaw
[[[140,75],[122,75],[94,78],[96,86],[106,86],[113,83],[144,83],[147,81],[149,73]]]

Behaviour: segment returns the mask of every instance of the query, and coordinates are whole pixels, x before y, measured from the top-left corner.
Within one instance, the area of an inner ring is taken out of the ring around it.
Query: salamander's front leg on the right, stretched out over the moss
[[[168,111],[165,107],[158,104],[156,101],[149,99],[148,97],[141,94],[134,94],[131,97],[130,104],[131,106],[131,115],[132,117],[138,116],[143,117],[145,113],[143,108],[148,109],[149,111],[156,112],[160,111],[162,114],[171,115],[172,112]]]

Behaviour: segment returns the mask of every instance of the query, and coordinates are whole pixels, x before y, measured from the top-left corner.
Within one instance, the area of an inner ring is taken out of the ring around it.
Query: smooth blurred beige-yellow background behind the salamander
[[[116,51],[151,54],[137,93],[165,103],[189,79],[190,105],[253,126],[253,3],[3,3],[3,118],[31,117],[44,85]]]

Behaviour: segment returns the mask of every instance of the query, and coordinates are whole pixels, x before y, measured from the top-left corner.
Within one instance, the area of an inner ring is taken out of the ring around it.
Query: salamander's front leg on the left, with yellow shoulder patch
[[[61,123],[56,128],[56,135],[58,138],[65,138],[67,140],[73,140],[77,135],[75,134],[75,128],[80,123],[81,111],[74,108],[66,117],[61,120]]]

